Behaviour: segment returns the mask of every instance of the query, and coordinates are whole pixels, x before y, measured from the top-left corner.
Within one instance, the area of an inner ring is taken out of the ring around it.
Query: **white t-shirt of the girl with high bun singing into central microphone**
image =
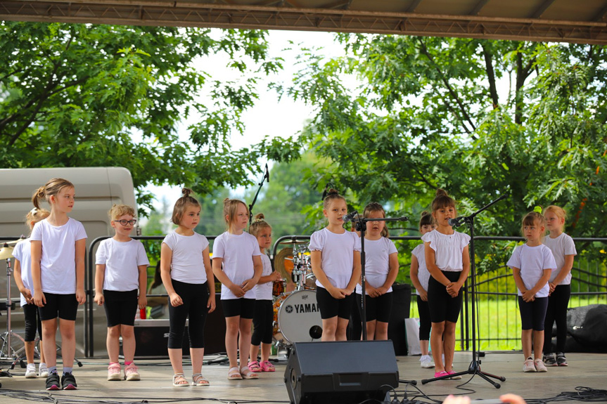
[[[336,234],[324,228],[312,233],[308,247],[310,251],[322,252],[321,268],[331,285],[347,287],[352,279],[354,252],[360,252],[360,237],[350,231]],[[319,280],[316,285],[324,287]]]

